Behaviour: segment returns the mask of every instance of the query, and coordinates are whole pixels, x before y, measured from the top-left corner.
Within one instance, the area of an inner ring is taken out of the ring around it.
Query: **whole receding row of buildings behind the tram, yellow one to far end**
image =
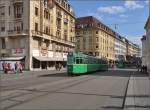
[[[140,57],[141,50],[95,17],[87,16],[76,20],[76,51],[106,58],[112,64],[129,56]]]

